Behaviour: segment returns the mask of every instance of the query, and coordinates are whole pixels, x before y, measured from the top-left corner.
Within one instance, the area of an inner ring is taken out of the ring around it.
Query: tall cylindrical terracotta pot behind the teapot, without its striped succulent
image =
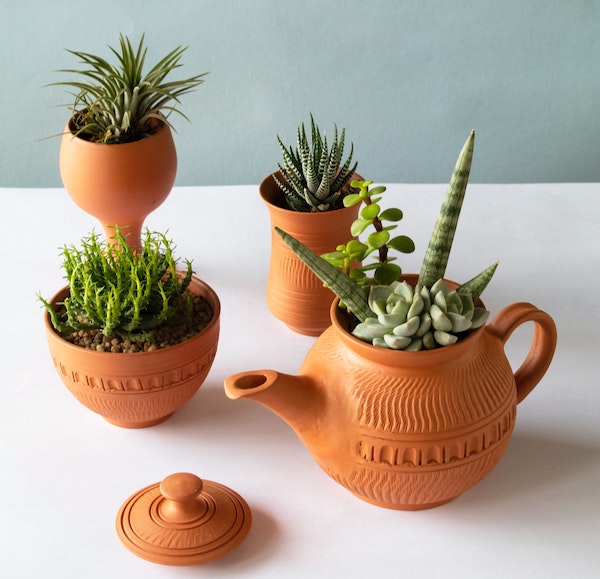
[[[281,172],[275,173],[285,181]],[[355,175],[356,179],[361,179]],[[317,254],[333,251],[350,236],[358,206],[325,212],[288,209],[282,191],[269,175],[259,186],[271,218],[271,260],[267,278],[267,306],[271,313],[299,334],[318,336],[331,324],[331,290],[321,282],[279,237],[277,226]]]

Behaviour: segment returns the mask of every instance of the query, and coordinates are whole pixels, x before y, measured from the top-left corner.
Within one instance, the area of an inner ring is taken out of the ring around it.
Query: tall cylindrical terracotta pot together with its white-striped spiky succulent
[[[279,136],[277,141],[283,156],[279,170],[259,186],[271,225],[289,231],[314,251],[326,251],[356,218],[357,208],[343,204],[351,179],[357,177],[354,146],[344,161],[345,129],[338,134],[335,127],[329,145],[312,115],[310,133],[304,123],[298,127],[295,148],[286,147]],[[292,330],[319,335],[330,324],[332,295],[272,232],[267,305]]]

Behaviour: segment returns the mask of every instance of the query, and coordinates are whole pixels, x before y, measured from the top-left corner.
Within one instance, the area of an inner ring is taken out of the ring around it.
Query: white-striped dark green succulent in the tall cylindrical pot
[[[284,193],[288,207],[294,211],[339,209],[357,167],[357,163],[350,167],[354,145],[351,145],[350,155],[342,166],[346,129],[342,129],[338,138],[337,126],[334,126],[333,142],[329,148],[327,135],[323,133],[321,136],[312,115],[310,124],[310,142],[302,123],[298,127],[295,150],[292,146],[286,148],[277,135],[283,154],[283,165],[278,163],[278,167],[284,181],[276,177],[275,180]]]

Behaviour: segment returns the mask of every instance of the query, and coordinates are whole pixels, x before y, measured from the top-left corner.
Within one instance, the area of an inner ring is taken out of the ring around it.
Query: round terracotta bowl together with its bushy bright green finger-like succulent
[[[117,227],[65,246],[68,285],[39,299],[56,370],[73,395],[109,422],[158,424],[189,400],[211,368],[219,337],[215,292],[177,269],[171,241],[145,231],[132,249]]]

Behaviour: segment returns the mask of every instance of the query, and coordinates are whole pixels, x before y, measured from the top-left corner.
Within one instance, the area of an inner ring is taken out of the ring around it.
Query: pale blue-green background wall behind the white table
[[[275,134],[345,125],[378,182],[445,182],[471,128],[472,180],[600,181],[600,2],[0,0],[1,186],[60,186],[64,48],[120,31],[210,71],[177,120],[179,185],[257,183]]]

